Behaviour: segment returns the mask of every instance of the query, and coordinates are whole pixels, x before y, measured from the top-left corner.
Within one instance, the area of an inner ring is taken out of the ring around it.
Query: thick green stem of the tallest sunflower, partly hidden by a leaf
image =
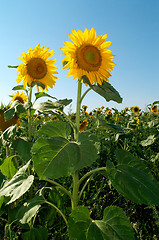
[[[80,108],[81,108],[81,91],[82,91],[82,83],[78,79],[78,91],[77,91],[77,107],[76,107],[76,127],[74,129],[74,139],[78,141],[79,137],[79,123],[80,123]],[[79,196],[79,175],[78,170],[76,170],[73,174],[73,196],[72,196],[72,209],[74,209],[78,205]]]

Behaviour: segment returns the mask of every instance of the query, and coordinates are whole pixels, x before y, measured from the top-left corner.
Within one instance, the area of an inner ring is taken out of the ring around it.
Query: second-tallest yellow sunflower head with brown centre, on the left
[[[23,63],[17,68],[17,83],[23,81],[24,87],[39,86],[42,91],[47,87],[52,88],[55,85],[57,74],[55,69],[57,68],[54,63],[56,59],[49,59],[54,55],[54,51],[49,51],[49,48],[40,47],[38,44],[33,50],[29,49],[27,53],[22,53],[22,57],[19,57]]]

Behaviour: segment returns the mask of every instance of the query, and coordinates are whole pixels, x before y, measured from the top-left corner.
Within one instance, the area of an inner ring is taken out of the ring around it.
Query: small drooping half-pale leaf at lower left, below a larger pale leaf
[[[33,199],[28,200],[18,210],[17,218],[22,224],[28,223],[38,212],[41,204],[45,202],[45,198],[42,195],[36,195]]]

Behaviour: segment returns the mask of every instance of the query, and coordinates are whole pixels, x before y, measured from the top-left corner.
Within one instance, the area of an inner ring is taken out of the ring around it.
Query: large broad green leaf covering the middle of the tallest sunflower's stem
[[[32,160],[40,179],[67,176],[90,166],[97,159],[96,147],[88,136],[81,134],[77,143],[56,136],[54,130],[52,133],[55,137],[43,136],[32,147]],[[59,135],[65,135],[65,132],[62,130]]]

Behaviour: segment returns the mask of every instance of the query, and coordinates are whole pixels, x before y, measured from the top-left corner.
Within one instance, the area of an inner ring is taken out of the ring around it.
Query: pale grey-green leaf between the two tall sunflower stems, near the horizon
[[[72,99],[64,99],[64,100],[59,100],[56,102],[52,102],[50,100],[46,102],[39,103],[35,106],[35,109],[41,112],[52,112],[55,109],[63,109],[63,107],[67,106],[72,102]]]

